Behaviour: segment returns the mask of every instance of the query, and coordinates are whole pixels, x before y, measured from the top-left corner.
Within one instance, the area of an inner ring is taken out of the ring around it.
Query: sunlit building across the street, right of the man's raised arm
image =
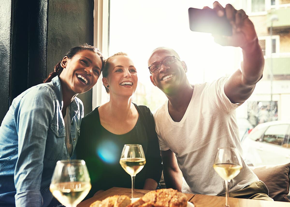
[[[290,0],[246,0],[265,66],[248,102],[251,124],[290,119]]]

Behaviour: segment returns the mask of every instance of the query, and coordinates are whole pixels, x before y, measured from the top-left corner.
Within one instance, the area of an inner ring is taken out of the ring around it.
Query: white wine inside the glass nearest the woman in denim
[[[50,184],[52,195],[64,206],[77,206],[88,195],[89,182],[63,182]]]

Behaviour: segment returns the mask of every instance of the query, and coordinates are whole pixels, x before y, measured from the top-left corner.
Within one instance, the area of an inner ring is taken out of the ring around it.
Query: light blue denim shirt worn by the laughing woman
[[[0,206],[48,206],[51,177],[58,160],[70,159],[65,144],[63,98],[59,77],[17,96],[0,127]],[[73,150],[83,104],[70,104]],[[72,153],[73,154],[73,153]]]

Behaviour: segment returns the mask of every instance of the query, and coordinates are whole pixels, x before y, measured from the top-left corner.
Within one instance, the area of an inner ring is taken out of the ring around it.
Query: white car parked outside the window
[[[290,122],[258,124],[242,139],[243,158],[248,165],[277,165],[290,162]]]

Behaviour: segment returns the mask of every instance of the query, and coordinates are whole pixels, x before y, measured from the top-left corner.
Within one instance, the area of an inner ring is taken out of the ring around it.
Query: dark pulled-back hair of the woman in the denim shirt
[[[80,45],[78,47],[70,48],[70,50],[68,50],[66,52],[64,57],[67,56],[68,59],[72,59],[78,52],[80,52],[82,50],[90,50],[92,52],[97,53],[100,56],[101,61],[102,61],[102,68],[101,68],[101,71],[102,71],[104,66],[105,66],[105,59],[104,59],[102,53],[99,51],[98,48],[91,46],[91,45],[88,45],[87,43],[85,43],[84,45]],[[44,83],[50,82],[54,77],[56,77],[57,75],[59,76],[61,74],[61,72],[64,68],[61,67],[60,63],[61,63],[61,61],[59,61],[54,66],[54,71],[48,75],[48,77],[43,81]]]

